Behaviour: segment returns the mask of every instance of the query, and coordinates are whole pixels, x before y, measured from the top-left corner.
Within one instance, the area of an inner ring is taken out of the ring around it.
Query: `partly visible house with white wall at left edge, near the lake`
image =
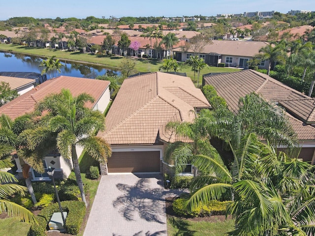
[[[19,95],[30,91],[35,87],[35,80],[32,79],[24,79],[24,78],[17,78],[17,77],[9,77],[9,76],[1,76],[0,75],[0,82],[9,83],[10,88],[12,90],[17,90]]]

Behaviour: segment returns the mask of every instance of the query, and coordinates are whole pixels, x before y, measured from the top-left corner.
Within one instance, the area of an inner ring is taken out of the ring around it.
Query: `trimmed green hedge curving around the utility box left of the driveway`
[[[79,201],[64,201],[61,205],[63,211],[68,213],[65,220],[67,233],[77,235],[86,212],[85,204]],[[28,236],[46,236],[47,224],[54,212],[60,212],[58,203],[44,207],[36,216],[38,225],[32,224]]]

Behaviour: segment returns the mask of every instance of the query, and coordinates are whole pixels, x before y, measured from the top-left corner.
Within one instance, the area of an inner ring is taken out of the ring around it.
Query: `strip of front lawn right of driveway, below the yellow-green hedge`
[[[224,236],[234,229],[234,220],[191,221],[171,216],[167,219],[168,236]]]

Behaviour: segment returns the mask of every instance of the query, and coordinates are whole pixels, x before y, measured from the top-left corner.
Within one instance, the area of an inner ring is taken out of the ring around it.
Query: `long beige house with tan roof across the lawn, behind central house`
[[[266,42],[253,41],[232,41],[213,40],[212,44],[206,45],[200,52],[199,57],[203,58],[208,65],[218,66],[225,63],[226,66],[248,68],[248,61],[259,53],[259,49],[268,45]],[[183,52],[182,48],[172,50],[177,61],[186,61],[194,56],[191,50]],[[262,60],[258,64],[259,69],[267,69],[268,61]]]

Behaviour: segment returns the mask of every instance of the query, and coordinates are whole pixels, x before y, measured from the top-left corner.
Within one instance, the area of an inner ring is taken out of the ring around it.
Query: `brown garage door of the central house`
[[[116,151],[108,158],[109,173],[160,172],[159,151]]]

